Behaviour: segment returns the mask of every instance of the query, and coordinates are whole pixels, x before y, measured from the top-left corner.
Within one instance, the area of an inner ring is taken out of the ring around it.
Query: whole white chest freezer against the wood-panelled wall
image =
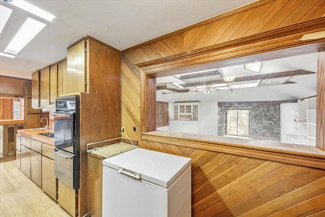
[[[135,148],[103,160],[103,216],[191,216],[191,159]]]

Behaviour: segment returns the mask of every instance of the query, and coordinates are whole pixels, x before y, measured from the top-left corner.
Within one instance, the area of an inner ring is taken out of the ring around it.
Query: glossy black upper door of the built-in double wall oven
[[[56,148],[76,153],[75,115],[54,113],[54,145]]]

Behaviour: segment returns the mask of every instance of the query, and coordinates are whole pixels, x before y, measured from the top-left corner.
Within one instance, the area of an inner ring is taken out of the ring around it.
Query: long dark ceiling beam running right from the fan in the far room
[[[276,72],[276,73],[269,73],[269,74],[261,74],[261,75],[252,75],[252,76],[245,76],[235,78],[234,81],[228,82],[241,82],[241,81],[253,81],[253,80],[262,80],[262,79],[273,79],[273,78],[282,78],[282,77],[290,77],[290,76],[297,76],[297,75],[308,75],[314,74],[314,72],[306,71],[306,70],[294,70],[294,71],[286,71],[286,72]],[[226,83],[223,79],[214,80],[214,81],[203,81],[203,82],[196,82],[196,83],[188,83],[188,84],[180,84],[182,87],[192,87],[192,86],[203,86],[203,85],[213,85],[213,84],[223,84]]]

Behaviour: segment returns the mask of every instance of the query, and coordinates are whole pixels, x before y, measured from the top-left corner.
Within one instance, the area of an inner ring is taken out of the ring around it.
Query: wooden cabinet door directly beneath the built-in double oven
[[[76,216],[76,191],[57,180],[57,202],[72,216]]]

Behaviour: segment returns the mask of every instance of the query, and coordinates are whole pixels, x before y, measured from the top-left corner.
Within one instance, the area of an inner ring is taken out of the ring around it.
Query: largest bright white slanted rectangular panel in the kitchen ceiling
[[[23,49],[41,30],[46,24],[31,19],[28,17],[22,24],[14,38],[11,40],[9,45],[6,47],[5,52],[11,54],[17,54]]]

